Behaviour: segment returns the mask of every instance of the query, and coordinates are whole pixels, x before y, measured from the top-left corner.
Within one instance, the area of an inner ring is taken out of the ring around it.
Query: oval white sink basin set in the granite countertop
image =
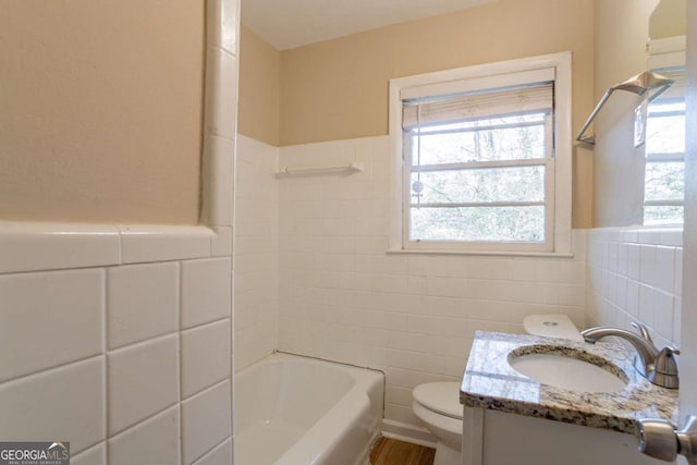
[[[620,368],[575,348],[525,346],[509,354],[509,364],[528,378],[570,391],[616,392],[627,384]]]

